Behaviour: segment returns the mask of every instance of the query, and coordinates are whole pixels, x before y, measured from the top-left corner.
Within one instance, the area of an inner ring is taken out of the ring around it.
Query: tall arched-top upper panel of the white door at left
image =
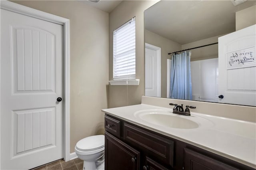
[[[55,36],[32,27],[12,27],[14,94],[55,92]]]

